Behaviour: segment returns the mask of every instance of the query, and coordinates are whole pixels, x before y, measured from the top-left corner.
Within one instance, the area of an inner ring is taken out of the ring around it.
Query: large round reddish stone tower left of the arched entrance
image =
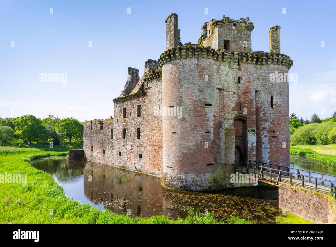
[[[162,185],[201,191],[218,184],[218,102],[213,62],[180,59],[162,66]]]

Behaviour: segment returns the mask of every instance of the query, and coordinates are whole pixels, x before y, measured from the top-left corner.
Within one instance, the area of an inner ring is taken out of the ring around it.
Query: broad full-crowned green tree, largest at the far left
[[[28,140],[30,145],[32,141],[39,143],[44,130],[41,119],[34,115],[24,115],[15,121],[15,131],[18,136],[23,140]]]

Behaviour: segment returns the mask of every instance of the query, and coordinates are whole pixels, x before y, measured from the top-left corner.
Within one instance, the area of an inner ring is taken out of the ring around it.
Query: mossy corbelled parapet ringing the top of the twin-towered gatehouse
[[[264,51],[257,52],[237,52],[215,50],[210,47],[204,46],[178,46],[163,52],[159,59],[158,64],[160,68],[170,61],[187,59],[187,58],[208,58],[219,62],[237,62],[238,58],[241,63],[251,64],[277,64],[284,65],[290,69],[293,65],[293,60],[280,53],[269,53]]]

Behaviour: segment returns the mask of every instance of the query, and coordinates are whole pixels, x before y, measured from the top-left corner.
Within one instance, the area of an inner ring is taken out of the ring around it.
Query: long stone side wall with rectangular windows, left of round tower
[[[140,117],[137,116],[138,105],[141,105]],[[125,118],[123,108],[126,108]],[[161,79],[159,78],[147,82],[144,91],[117,98],[114,105],[114,118],[104,119],[102,130],[96,120],[92,121],[92,130],[90,130],[90,121],[84,124],[86,159],[160,176],[162,116],[157,113],[160,108]],[[137,139],[137,128],[140,128],[141,139]],[[113,129],[113,139],[111,139],[111,129]],[[125,139],[123,139],[123,129],[125,129]],[[141,158],[139,154],[142,154]]]

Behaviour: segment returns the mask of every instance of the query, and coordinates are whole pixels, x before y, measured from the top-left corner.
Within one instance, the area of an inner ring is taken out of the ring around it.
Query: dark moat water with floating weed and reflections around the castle
[[[239,215],[255,223],[309,223],[278,208],[278,188],[254,186],[209,193],[179,192],[161,186],[160,178],[139,174],[90,161],[67,161],[48,157],[33,161],[32,166],[51,174],[65,194],[100,209],[131,215],[185,216],[182,206],[214,212],[218,220]],[[291,167],[334,175],[335,169],[311,164],[305,158],[291,157]],[[92,181],[89,181],[92,177]]]

